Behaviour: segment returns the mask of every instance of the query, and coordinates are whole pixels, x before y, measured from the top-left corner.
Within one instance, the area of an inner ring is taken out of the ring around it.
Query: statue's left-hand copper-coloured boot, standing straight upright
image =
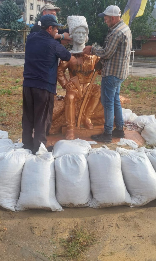
[[[65,105],[65,117],[66,117],[66,140],[73,140],[75,138],[75,106]]]

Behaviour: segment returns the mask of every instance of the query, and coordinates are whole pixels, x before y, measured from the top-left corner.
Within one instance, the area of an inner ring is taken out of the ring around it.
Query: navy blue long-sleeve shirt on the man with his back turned
[[[23,87],[46,89],[56,94],[59,58],[69,61],[71,53],[45,30],[31,33],[25,45]]]

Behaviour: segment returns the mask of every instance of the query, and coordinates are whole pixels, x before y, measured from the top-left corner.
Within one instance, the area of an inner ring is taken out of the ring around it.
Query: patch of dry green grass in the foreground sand
[[[60,239],[61,245],[64,246],[64,256],[67,260],[79,260],[83,252],[87,251],[90,246],[97,243],[95,234],[87,231],[86,228],[74,228],[67,239]]]

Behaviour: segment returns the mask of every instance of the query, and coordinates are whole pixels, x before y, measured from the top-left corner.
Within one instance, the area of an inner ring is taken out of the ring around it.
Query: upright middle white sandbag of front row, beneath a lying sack
[[[83,154],[66,154],[55,160],[56,199],[61,206],[85,207],[92,200],[87,160]]]

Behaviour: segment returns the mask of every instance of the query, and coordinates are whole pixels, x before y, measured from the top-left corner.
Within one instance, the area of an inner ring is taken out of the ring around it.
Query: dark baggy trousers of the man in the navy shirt
[[[22,142],[23,148],[32,150],[33,154],[38,151],[41,142],[47,143],[53,108],[54,94],[44,89],[23,87]]]

